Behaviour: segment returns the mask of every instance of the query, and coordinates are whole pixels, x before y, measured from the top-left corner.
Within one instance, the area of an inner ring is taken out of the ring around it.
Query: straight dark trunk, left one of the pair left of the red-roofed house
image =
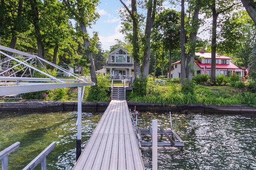
[[[184,85],[186,78],[186,55],[185,55],[185,7],[184,0],[181,0],[181,84]]]

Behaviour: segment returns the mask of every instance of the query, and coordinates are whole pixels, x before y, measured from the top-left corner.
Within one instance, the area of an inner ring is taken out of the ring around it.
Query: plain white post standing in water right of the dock
[[[158,120],[152,120],[152,170],[158,169]]]

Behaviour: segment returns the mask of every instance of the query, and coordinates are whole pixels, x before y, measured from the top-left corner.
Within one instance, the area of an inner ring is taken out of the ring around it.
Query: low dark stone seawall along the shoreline
[[[83,102],[83,112],[104,112],[109,102]],[[133,110],[136,106],[138,111],[155,112],[180,112],[180,113],[256,113],[256,107],[246,105],[161,105],[153,103],[128,102],[128,107]],[[2,102],[0,112],[6,111],[31,111],[31,112],[62,112],[76,111],[77,102]]]

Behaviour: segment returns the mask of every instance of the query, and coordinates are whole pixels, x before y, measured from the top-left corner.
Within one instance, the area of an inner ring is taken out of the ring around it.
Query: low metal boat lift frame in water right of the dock
[[[169,130],[165,130],[165,129],[163,129],[162,126],[160,126],[160,129],[158,130],[158,134],[163,134],[168,139],[169,142],[158,142],[158,146],[169,146],[169,147],[181,147],[181,148],[183,148],[184,142],[182,141],[182,139],[179,137],[179,135],[172,128],[171,112],[169,113],[169,116],[170,116],[170,127],[171,128]],[[148,127],[149,127],[148,129],[138,129],[137,128],[138,111],[136,111],[136,110],[134,110],[133,115],[130,111],[130,117],[131,117],[131,120],[132,120],[134,131],[135,131],[136,136],[137,136],[139,146],[140,147],[141,146],[152,146],[152,142],[144,142],[143,139],[142,139],[142,135],[144,135],[144,134],[148,134],[148,135],[150,134],[151,139],[153,139],[152,138],[152,126],[148,125]]]

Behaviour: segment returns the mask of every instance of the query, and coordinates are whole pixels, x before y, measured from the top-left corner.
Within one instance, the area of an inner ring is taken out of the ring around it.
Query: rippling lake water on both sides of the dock
[[[82,147],[86,145],[102,113],[83,113]],[[140,113],[139,128],[148,128],[152,119],[169,128],[168,113]],[[9,170],[24,168],[51,142],[48,170],[70,170],[75,163],[76,113],[0,113],[0,150],[14,142],[20,147],[8,156]],[[173,129],[185,142],[183,149],[159,147],[159,170],[256,169],[256,115],[173,114]],[[149,137],[144,136],[145,140]],[[159,136],[159,141],[167,141]],[[151,148],[142,148],[147,169]],[[39,169],[39,168],[37,168]]]

